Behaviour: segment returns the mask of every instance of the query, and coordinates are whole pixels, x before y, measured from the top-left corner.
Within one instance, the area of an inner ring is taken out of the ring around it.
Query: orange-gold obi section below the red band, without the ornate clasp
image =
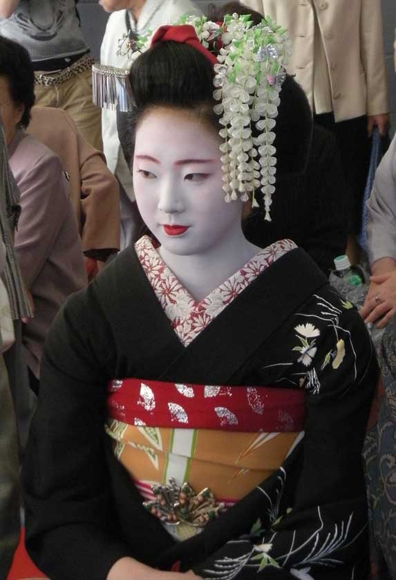
[[[110,419],[114,453],[145,500],[151,486],[175,478],[200,491],[209,487],[232,505],[281,466],[301,433],[241,433],[214,429],[133,426]]]

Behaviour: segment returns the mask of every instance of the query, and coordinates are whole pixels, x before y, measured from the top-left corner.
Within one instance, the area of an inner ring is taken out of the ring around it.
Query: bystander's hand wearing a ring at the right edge
[[[374,275],[370,278],[364,307],[360,314],[366,323],[385,327],[396,311],[396,271]]]

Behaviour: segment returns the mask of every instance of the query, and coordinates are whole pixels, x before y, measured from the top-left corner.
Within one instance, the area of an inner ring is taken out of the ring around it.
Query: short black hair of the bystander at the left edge
[[[0,36],[0,77],[10,84],[10,96],[25,107],[20,125],[28,127],[30,109],[35,104],[35,73],[26,48]]]

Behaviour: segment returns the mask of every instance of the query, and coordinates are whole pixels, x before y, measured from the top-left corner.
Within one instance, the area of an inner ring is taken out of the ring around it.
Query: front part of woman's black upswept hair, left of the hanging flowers
[[[158,42],[138,57],[129,79],[134,107],[117,111],[117,129],[126,159],[131,166],[135,130],[144,114],[156,107],[194,111],[196,118],[220,129],[213,107],[214,69],[210,60],[189,44]]]

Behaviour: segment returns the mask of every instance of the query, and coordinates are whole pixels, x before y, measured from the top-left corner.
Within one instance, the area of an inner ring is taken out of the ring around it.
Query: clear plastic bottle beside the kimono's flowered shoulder
[[[342,255],[334,258],[335,270],[330,274],[330,284],[345,300],[353,302],[356,307],[364,305],[368,284],[368,275],[360,267],[350,265],[348,256]]]

